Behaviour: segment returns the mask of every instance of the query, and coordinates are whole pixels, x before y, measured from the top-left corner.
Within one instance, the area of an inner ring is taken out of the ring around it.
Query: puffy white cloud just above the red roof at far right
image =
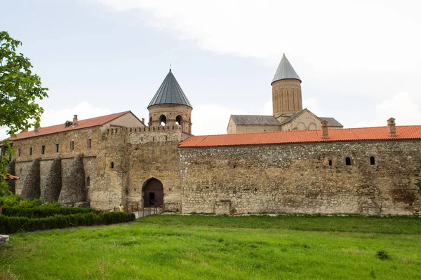
[[[356,127],[385,126],[390,117],[396,119],[396,125],[419,125],[420,104],[416,104],[408,92],[398,92],[392,99],[386,99],[377,104],[374,120],[358,123]]]

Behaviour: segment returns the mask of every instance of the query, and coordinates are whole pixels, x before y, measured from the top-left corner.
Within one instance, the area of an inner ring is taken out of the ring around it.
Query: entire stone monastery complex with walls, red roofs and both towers
[[[192,105],[170,71],[148,125],[126,111],[18,134],[15,192],[96,209],[419,214],[421,125],[342,129],[302,109],[300,82],[283,57],[274,116],[232,116],[232,133],[192,136]]]

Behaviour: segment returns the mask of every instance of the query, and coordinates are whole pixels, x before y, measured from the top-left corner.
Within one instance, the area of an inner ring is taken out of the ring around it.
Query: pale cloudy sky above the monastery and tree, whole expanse
[[[419,0],[1,0],[1,10],[0,30],[49,88],[41,127],[74,114],[148,119],[171,64],[192,133],[225,134],[231,114],[272,115],[283,53],[317,116],[421,125]]]

